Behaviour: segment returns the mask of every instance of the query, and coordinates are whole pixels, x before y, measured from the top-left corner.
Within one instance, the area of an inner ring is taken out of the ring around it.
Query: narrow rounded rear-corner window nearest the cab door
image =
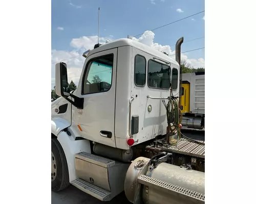
[[[144,86],[146,83],[146,59],[140,55],[135,56],[134,82],[136,86]]]

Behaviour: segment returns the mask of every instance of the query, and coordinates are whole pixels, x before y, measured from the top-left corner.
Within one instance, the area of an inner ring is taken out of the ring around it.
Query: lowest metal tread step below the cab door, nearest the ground
[[[95,186],[89,182],[86,182],[82,179],[76,179],[71,182],[73,186],[80,189],[81,191],[90,194],[91,196],[101,200],[101,201],[109,201],[112,199],[111,192],[107,191],[103,188]]]

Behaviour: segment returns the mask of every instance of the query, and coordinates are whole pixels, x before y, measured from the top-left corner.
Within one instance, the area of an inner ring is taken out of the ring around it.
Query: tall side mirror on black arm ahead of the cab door
[[[55,92],[58,96],[67,96],[68,90],[68,71],[67,64],[59,62],[55,65]]]

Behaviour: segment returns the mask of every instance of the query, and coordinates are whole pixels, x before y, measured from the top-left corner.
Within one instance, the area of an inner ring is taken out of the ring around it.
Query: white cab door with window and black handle
[[[80,137],[105,145],[115,145],[115,92],[117,48],[92,54],[86,60],[77,96],[83,109],[73,107],[72,126]]]

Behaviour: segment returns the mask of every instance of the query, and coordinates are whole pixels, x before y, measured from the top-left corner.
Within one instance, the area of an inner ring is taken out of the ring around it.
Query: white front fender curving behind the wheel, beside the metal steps
[[[69,169],[69,181],[74,181],[78,179],[75,169],[75,154],[81,151],[91,153],[90,142],[89,140],[74,140],[72,136],[69,136],[64,131],[59,132],[59,134],[57,135],[57,140],[62,146],[62,149],[66,156]]]

